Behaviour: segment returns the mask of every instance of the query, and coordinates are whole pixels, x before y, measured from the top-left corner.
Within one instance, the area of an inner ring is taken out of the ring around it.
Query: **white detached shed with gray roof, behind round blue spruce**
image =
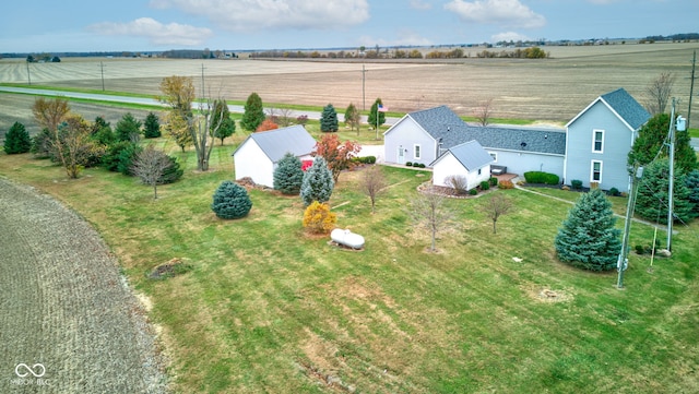
[[[249,177],[272,188],[277,162],[288,152],[299,159],[311,158],[316,140],[303,126],[254,132],[233,153],[235,178]]]

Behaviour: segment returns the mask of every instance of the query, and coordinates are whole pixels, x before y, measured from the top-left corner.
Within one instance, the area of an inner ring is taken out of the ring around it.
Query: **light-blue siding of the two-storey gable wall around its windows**
[[[593,131],[604,130],[603,153],[593,152]],[[590,187],[592,160],[602,165],[600,188],[617,188],[628,191],[629,176],[626,169],[628,152],[631,148],[631,131],[604,103],[597,100],[568,126],[567,165],[565,182],[581,180]]]

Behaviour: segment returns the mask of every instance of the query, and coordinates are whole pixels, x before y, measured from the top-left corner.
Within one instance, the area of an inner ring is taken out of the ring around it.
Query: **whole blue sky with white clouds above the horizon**
[[[356,48],[696,33],[699,0],[12,0],[0,52]]]

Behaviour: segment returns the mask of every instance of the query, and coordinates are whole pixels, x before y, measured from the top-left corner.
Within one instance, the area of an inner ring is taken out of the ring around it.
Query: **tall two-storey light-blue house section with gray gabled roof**
[[[628,153],[650,117],[624,88],[597,97],[566,124],[566,183],[628,191]]]

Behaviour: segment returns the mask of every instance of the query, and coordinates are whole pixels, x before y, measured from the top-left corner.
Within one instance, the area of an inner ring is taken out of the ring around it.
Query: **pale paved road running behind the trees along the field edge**
[[[35,96],[55,96],[55,97],[68,97],[68,98],[81,98],[88,100],[99,100],[99,102],[112,102],[112,103],[127,103],[127,104],[137,104],[137,105],[149,105],[149,106],[158,106],[166,107],[165,104],[158,102],[155,98],[145,98],[145,97],[128,97],[128,96],[115,96],[107,94],[93,94],[93,93],[79,93],[79,92],[64,92],[58,89],[39,89],[39,88],[31,88],[31,87],[14,87],[14,86],[0,86],[0,92],[5,93],[19,93],[26,95],[35,95]],[[199,108],[197,103],[192,104],[192,108]],[[265,108],[269,111],[270,108]],[[229,105],[228,110],[234,114],[242,114],[245,112],[244,106],[238,105]],[[337,111],[337,119],[340,121],[344,121],[344,111]],[[300,110],[292,110],[289,112],[289,117],[297,118],[301,115],[306,115],[308,119],[320,119],[320,112],[316,111],[300,111]],[[399,121],[400,118],[387,117],[386,123],[391,126]],[[366,123],[367,117],[363,116],[362,121]]]

